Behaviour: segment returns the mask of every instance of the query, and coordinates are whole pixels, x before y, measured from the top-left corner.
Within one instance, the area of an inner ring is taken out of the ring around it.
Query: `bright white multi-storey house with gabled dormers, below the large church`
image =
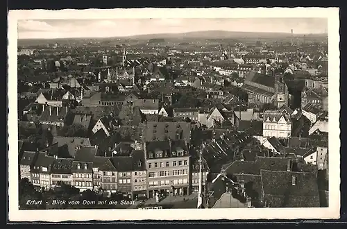
[[[291,135],[291,120],[289,114],[266,110],[263,121],[263,137],[288,138]]]

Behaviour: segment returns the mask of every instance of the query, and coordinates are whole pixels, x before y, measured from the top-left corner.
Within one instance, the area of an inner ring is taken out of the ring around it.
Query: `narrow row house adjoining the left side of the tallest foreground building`
[[[133,151],[133,171],[131,178],[131,191],[133,192],[134,198],[146,197],[147,190],[147,171],[146,171],[146,160],[144,157],[143,150]]]

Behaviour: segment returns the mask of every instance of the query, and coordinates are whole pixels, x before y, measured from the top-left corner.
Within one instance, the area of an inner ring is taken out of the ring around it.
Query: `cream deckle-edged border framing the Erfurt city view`
[[[17,135],[17,21],[117,18],[328,18],[329,207],[170,210],[19,210]],[[10,221],[117,221],[209,219],[337,219],[340,208],[339,8],[141,8],[113,10],[10,10],[8,13],[8,197]]]

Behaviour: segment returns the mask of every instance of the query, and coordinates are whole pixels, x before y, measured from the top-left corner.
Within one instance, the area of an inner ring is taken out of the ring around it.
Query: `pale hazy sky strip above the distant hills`
[[[47,19],[19,20],[19,39],[67,37],[123,37],[192,31],[235,31],[310,34],[327,33],[325,18],[244,19]]]

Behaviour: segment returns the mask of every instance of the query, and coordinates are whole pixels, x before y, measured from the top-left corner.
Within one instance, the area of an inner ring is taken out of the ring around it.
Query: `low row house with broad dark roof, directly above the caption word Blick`
[[[74,162],[74,159],[71,158],[56,158],[54,160],[51,168],[52,187],[59,183],[72,184],[72,162]]]

